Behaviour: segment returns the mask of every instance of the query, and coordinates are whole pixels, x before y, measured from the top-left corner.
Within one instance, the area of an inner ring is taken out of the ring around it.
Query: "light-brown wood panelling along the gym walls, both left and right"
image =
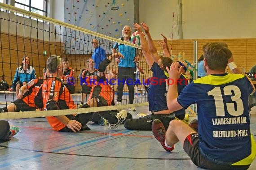
[[[202,47],[205,43],[225,42],[234,55],[234,61],[243,71],[247,72],[256,64],[256,38],[241,38],[241,39],[199,39],[198,41],[198,57],[203,54]],[[185,59],[193,63],[193,39],[190,40],[173,40],[172,55],[178,55],[179,52],[185,52]],[[158,40],[154,40],[158,51],[162,51]],[[171,48],[171,40],[168,40],[169,48]],[[7,81],[11,84],[16,68],[21,65],[22,56],[28,55],[30,63],[36,70],[36,75],[42,76],[41,70],[45,66],[45,61],[49,55],[60,55],[62,58],[70,59],[70,67],[75,70],[75,78],[78,78],[79,73],[86,66],[86,61],[91,55],[65,55],[63,43],[46,42],[37,39],[24,38],[12,34],[0,34],[0,76],[5,74]],[[43,54],[47,51],[47,55]],[[115,61],[112,61],[112,63]],[[116,63],[115,63],[116,64]],[[145,74],[141,74],[142,78],[146,79],[152,74],[149,67],[142,57],[140,62],[141,68]],[[112,67],[112,66],[111,66]],[[117,67],[115,67],[117,68]],[[229,68],[227,71],[230,72]],[[139,87],[142,88],[142,87]],[[80,90],[80,84],[77,84],[77,90]],[[125,86],[125,90],[127,90]]]

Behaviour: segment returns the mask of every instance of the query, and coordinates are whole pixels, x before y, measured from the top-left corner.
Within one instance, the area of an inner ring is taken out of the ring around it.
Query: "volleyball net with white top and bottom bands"
[[[86,103],[89,98],[89,94],[85,100],[82,100],[83,84],[92,86],[97,84],[95,77],[91,80],[91,77],[86,80],[83,77],[83,72],[88,70],[88,61],[95,53],[94,41],[97,40],[98,46],[105,51],[104,57],[108,57],[112,54],[113,48],[116,44],[123,45],[127,48],[122,48],[124,51],[117,51],[126,53],[126,55],[134,55],[137,57],[139,68],[134,69],[134,74],[137,74],[137,79],[134,81],[132,77],[126,77],[127,79],[119,80],[122,77],[118,73],[117,77],[114,77],[114,82],[110,83],[111,88],[115,92],[114,102],[117,102],[117,92],[119,83],[124,84],[124,90],[122,93],[121,104],[118,106],[102,106],[102,107],[90,107],[90,108],[75,108],[67,110],[47,110],[47,111],[29,111],[8,113],[1,113],[0,119],[18,119],[18,118],[31,118],[31,117],[43,117],[53,115],[70,115],[80,114],[88,112],[96,112],[103,110],[119,110],[129,107],[146,106],[147,95],[146,88],[149,85],[148,78],[152,76],[146,60],[140,53],[140,47],[122,41],[116,38],[108,37],[103,34],[86,30],[71,24],[67,24],[62,21],[57,21],[49,17],[44,17],[36,13],[31,13],[23,9],[18,9],[13,6],[0,3],[0,76],[5,75],[4,80],[7,81],[10,88],[4,88],[0,91],[0,107],[13,106],[13,101],[17,100],[16,87],[17,81],[21,81],[22,76],[17,76],[18,69],[27,74],[35,74],[37,78],[43,79],[43,69],[47,68],[46,62],[49,56],[57,55],[62,58],[62,73],[72,76],[63,78],[64,76],[58,75],[58,78],[62,79],[65,86],[71,86],[71,98],[76,106],[79,106],[81,102]],[[134,30],[132,30],[133,32]],[[126,50],[127,49],[127,50]],[[132,51],[134,52],[131,52]],[[130,54],[133,53],[133,54]],[[22,71],[23,65],[27,65],[26,57],[29,58],[29,66],[31,70]],[[126,61],[125,61],[126,60]],[[63,64],[69,64],[68,67]],[[133,59],[128,59],[124,56],[124,62],[131,62],[134,67]],[[94,61],[95,65],[99,65],[97,58]],[[111,63],[106,68],[106,73],[110,73],[110,70],[116,70],[118,72],[119,61],[118,59],[111,59]],[[33,73],[33,69],[35,73]],[[139,73],[138,73],[139,72]],[[143,74],[142,74],[143,72]],[[16,75],[16,76],[15,76]],[[18,74],[19,75],[19,74]],[[49,75],[47,75],[49,76]],[[124,76],[124,75],[123,75]],[[1,76],[2,77],[2,76]],[[113,78],[113,76],[112,76]],[[131,79],[128,81],[128,79]],[[28,78],[26,77],[26,80]],[[89,81],[88,81],[89,80]],[[28,80],[30,81],[30,80]],[[14,83],[13,83],[14,82]],[[110,82],[110,81],[109,81]],[[128,85],[133,85],[134,90],[129,90]],[[137,85],[136,85],[137,84]],[[22,82],[21,82],[22,86]],[[13,91],[10,91],[13,90]],[[33,91],[33,90],[32,90]],[[133,93],[134,98],[129,97],[130,93]],[[24,93],[23,91],[21,93]],[[32,92],[31,92],[32,93]],[[84,94],[85,95],[85,94]],[[24,97],[24,96],[23,96]],[[133,104],[131,100],[133,99]],[[36,104],[34,100],[28,99],[28,104]],[[33,103],[35,102],[35,103]]]

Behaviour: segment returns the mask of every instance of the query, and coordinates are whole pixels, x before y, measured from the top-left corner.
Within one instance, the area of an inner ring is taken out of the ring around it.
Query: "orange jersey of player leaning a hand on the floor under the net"
[[[71,94],[60,79],[56,77],[47,77],[46,81],[44,81],[42,85],[42,91],[44,110],[46,110],[46,103],[51,100],[57,102],[60,109],[76,109],[76,105],[72,100]],[[46,119],[51,127],[56,131],[66,127],[65,124],[60,122],[54,116],[47,116]]]

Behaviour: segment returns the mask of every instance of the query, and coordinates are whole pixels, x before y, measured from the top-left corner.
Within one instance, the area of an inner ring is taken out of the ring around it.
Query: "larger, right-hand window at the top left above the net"
[[[15,0],[15,7],[47,17],[47,3],[48,0]],[[17,15],[23,16],[22,14]]]

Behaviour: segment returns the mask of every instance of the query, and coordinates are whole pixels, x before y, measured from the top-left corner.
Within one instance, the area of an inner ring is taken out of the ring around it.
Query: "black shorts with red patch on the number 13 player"
[[[201,154],[199,150],[199,136],[197,133],[191,133],[186,137],[183,144],[183,149],[185,150],[185,153],[189,155],[191,161],[193,161],[196,166],[201,168],[210,170],[246,170],[250,166],[221,165],[209,161]]]

